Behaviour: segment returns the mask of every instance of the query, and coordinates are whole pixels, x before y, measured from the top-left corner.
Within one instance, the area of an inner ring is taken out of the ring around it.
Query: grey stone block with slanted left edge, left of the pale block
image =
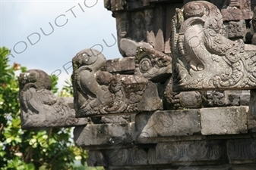
[[[137,141],[147,138],[187,136],[201,132],[200,110],[140,113],[135,118]]]

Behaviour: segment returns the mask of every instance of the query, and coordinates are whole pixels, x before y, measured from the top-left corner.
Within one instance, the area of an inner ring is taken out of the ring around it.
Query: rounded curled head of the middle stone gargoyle
[[[106,58],[100,51],[87,48],[77,53],[72,62],[74,70],[77,70],[81,66],[87,66],[87,69],[96,72],[105,66]]]

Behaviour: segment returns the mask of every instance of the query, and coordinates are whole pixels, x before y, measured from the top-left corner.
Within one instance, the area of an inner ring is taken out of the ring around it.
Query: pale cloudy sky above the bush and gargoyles
[[[68,62],[84,48],[95,45],[106,59],[121,57],[113,38],[115,18],[103,0],[0,1],[0,46],[11,49],[10,64],[21,63],[49,75],[55,72],[62,85],[71,76]],[[113,46],[107,47],[103,39]]]

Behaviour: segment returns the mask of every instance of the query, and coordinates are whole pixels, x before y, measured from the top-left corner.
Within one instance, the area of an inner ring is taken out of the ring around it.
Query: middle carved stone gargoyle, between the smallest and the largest
[[[72,61],[77,117],[136,113],[161,108],[162,101],[153,82],[141,76],[107,72],[104,68],[106,58],[100,51],[85,49]]]

